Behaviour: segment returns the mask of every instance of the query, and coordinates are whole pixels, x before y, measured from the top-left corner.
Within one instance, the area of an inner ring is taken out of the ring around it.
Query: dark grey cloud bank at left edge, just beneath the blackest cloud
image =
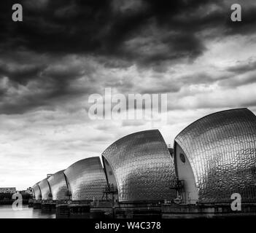
[[[89,85],[93,66],[77,62],[76,57],[36,57],[25,53],[28,62],[19,62],[19,54],[6,64],[0,58],[0,113],[23,114],[34,108],[55,109],[79,96],[95,92]],[[32,58],[31,58],[32,57]],[[17,58],[17,59],[16,59]],[[34,61],[33,61],[34,60]],[[40,63],[41,62],[41,63]],[[79,85],[83,78],[88,85]]]

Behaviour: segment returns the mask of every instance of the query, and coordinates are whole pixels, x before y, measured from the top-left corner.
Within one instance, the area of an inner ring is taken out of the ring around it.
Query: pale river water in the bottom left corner
[[[55,218],[55,213],[42,213],[28,205],[23,205],[22,210],[12,210],[12,205],[0,205],[0,218]]]

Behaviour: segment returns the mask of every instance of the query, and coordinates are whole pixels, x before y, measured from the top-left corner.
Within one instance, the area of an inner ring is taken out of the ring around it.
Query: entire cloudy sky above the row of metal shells
[[[255,0],[20,3],[14,23],[0,1],[0,186],[26,189],[136,131],[173,143],[214,111],[256,113]],[[105,87],[167,93],[168,121],[89,119],[88,96]]]

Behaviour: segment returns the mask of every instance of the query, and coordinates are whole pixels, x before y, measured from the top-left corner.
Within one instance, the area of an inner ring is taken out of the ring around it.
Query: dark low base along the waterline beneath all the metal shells
[[[56,210],[56,218],[229,218],[255,216],[256,203],[243,203],[241,211],[230,204],[178,205],[147,202],[34,202],[42,211]]]

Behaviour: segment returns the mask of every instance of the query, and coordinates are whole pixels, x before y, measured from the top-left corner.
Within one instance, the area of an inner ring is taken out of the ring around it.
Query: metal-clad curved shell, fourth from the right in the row
[[[65,200],[66,192],[68,191],[68,186],[66,183],[66,178],[64,175],[64,170],[60,170],[48,178],[50,184],[50,190],[53,194],[53,200]]]

